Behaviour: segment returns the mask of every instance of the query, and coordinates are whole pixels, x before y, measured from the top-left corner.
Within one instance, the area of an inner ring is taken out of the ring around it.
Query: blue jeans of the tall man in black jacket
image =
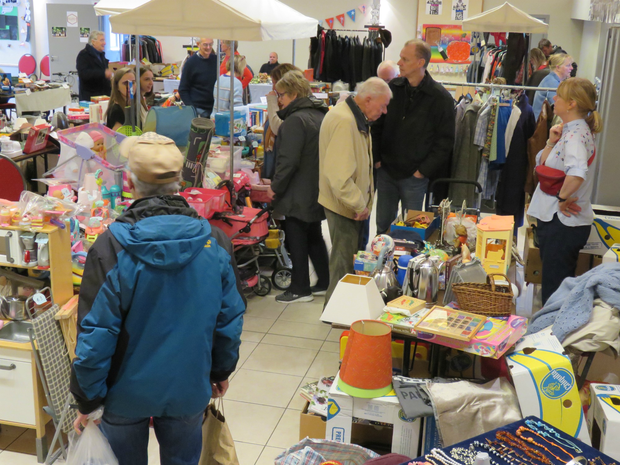
[[[398,216],[398,203],[403,210],[422,210],[428,179],[415,176],[392,179],[383,168],[377,170],[377,234],[389,231]]]

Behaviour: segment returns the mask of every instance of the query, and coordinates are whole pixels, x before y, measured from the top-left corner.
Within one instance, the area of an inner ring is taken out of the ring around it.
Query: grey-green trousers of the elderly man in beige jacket
[[[334,213],[325,208],[329,237],[332,240],[332,252],[329,256],[329,288],[325,294],[325,305],[329,302],[338,281],[347,273],[353,273],[353,261],[358,250],[363,221]]]

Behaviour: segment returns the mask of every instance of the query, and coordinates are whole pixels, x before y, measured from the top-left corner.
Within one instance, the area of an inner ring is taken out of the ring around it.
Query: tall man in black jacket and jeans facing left
[[[430,45],[405,42],[392,79],[387,114],[371,127],[377,168],[377,233],[405,210],[422,210],[428,179],[449,161],[454,146],[454,99],[428,74]]]

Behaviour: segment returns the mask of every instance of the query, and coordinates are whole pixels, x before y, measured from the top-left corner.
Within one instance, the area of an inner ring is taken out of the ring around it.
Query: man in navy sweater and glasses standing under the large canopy
[[[218,79],[218,57],[213,53],[213,39],[198,39],[198,52],[185,61],[179,95],[185,105],[196,108],[199,117],[209,118],[213,110],[213,88]]]

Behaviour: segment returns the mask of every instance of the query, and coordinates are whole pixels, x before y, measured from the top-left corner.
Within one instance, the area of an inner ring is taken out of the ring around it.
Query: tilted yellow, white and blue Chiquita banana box
[[[518,340],[506,361],[523,417],[534,415],[590,445],[575,374],[551,328]]]

